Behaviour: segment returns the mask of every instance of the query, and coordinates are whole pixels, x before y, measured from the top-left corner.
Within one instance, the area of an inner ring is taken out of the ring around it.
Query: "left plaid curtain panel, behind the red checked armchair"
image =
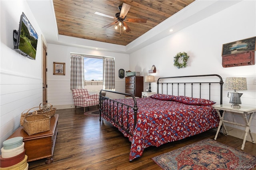
[[[70,90],[84,89],[84,57],[71,55]]]

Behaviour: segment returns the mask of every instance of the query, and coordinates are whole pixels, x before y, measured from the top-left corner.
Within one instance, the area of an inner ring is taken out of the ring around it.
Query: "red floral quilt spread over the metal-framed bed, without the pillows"
[[[138,112],[137,124],[134,129],[134,113],[120,104],[117,106],[111,102],[111,106],[104,105],[105,109],[108,107],[114,110],[115,121],[111,121],[106,114],[102,113],[102,117],[117,127],[124,136],[128,137],[131,144],[129,160],[133,160],[142,156],[142,152],[149,146],[160,146],[167,142],[172,142],[199,134],[211,128],[218,127],[219,117],[216,111],[211,106],[197,106],[186,105],[175,101],[163,101],[147,98],[138,98]],[[132,99],[116,99],[121,103],[133,106]],[[121,110],[124,111],[124,119],[121,118]],[[118,114],[116,114],[118,113]],[[128,116],[128,124],[127,124]],[[129,125],[130,132],[133,136],[129,135],[123,128],[118,126],[124,124],[125,127]]]

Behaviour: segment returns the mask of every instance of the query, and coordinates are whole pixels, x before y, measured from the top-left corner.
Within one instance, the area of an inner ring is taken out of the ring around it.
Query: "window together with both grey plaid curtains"
[[[81,62],[82,61],[82,62]],[[70,89],[114,90],[114,58],[71,54]]]

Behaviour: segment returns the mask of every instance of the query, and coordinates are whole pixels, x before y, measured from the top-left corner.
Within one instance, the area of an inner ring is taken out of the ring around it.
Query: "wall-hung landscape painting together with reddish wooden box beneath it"
[[[254,65],[256,37],[222,45],[222,67]]]

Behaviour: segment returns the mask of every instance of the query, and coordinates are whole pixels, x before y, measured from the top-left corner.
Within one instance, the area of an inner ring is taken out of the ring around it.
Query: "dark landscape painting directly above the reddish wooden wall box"
[[[236,42],[230,42],[222,45],[222,56],[232,55],[237,53],[244,53],[246,51],[255,51],[256,37],[247,38],[244,40],[238,40]]]

